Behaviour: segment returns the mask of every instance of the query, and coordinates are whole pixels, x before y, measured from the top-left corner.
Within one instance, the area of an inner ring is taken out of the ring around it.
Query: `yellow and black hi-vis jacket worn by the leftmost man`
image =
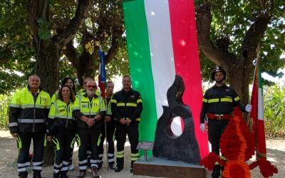
[[[45,132],[46,118],[51,107],[51,97],[41,88],[33,100],[29,87],[19,90],[11,100],[9,130],[15,132]]]

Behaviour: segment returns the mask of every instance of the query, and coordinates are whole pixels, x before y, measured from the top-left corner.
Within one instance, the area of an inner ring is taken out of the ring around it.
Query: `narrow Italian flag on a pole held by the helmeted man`
[[[250,117],[253,121],[253,132],[256,137],[256,155],[258,159],[266,159],[266,143],[264,132],[264,109],[263,109],[263,94],[262,94],[262,80],[259,61],[254,74],[254,86],[252,88],[252,112]]]

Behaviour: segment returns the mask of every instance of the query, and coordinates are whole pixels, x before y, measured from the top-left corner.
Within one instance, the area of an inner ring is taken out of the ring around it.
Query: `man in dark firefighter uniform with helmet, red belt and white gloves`
[[[233,88],[224,84],[227,73],[224,68],[217,66],[211,75],[216,83],[212,88],[206,90],[202,100],[202,110],[200,113],[200,129],[205,131],[204,119],[208,121],[208,138],[212,145],[212,152],[219,155],[219,141],[225,128],[229,124],[229,118],[235,107],[239,107],[243,112],[250,112],[252,105],[246,108],[240,103],[239,96]],[[212,177],[219,177],[221,167],[214,166]]]

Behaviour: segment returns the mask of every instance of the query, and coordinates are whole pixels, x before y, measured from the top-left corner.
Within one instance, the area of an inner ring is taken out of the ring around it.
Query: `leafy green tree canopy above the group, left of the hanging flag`
[[[78,17],[76,11],[82,10],[78,9],[81,1],[43,2],[46,4],[15,0],[0,5],[0,93],[22,86],[38,66],[48,66],[54,60],[59,62],[59,73],[51,83],[66,76],[79,82],[85,76],[94,77],[98,73],[99,47],[107,54],[108,78],[128,73],[122,1],[91,1],[87,18],[76,31],[76,24],[70,22]],[[48,50],[58,56],[43,63],[41,58],[48,56],[43,51]]]

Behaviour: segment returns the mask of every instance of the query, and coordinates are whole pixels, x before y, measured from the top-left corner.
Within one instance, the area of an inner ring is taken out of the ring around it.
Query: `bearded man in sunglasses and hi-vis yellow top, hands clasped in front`
[[[74,103],[73,116],[78,120],[78,157],[79,171],[78,178],[86,176],[88,145],[91,148],[90,166],[93,177],[100,177],[98,174],[98,138],[103,125],[102,119],[105,116],[105,102],[95,94],[97,85],[90,80],[87,83],[87,90],[84,95],[77,95]]]

